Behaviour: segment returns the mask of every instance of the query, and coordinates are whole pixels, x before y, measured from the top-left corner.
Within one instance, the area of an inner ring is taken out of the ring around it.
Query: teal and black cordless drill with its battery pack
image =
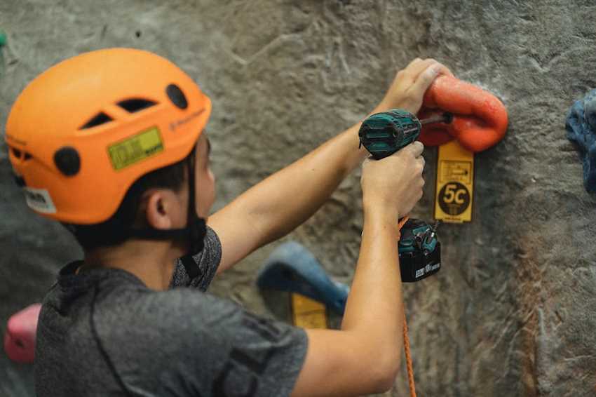
[[[414,114],[401,109],[372,114],[363,121],[358,137],[374,159],[398,152],[420,135],[425,124],[450,123],[451,114],[445,113],[419,120]],[[409,219],[401,229],[398,243],[402,281],[412,283],[435,274],[441,268],[441,244],[431,227],[423,220]]]

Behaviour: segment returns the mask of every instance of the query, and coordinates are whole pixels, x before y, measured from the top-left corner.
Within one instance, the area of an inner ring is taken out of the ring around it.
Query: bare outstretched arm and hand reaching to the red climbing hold
[[[432,59],[412,61],[398,72],[374,112],[402,108],[417,112],[422,96],[447,68]],[[351,126],[313,152],[266,178],[209,218],[222,241],[219,271],[253,250],[289,233],[309,219],[367,156],[358,149],[358,128]]]

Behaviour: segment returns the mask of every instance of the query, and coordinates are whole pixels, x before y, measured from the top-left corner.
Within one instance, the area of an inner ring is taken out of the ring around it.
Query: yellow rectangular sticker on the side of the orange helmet
[[[163,151],[163,142],[157,127],[150,128],[133,137],[108,147],[111,165],[115,170],[132,166]]]

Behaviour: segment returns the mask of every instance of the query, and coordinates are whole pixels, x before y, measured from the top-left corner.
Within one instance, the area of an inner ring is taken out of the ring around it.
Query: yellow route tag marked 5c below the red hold
[[[472,220],[474,153],[452,140],[439,147],[435,219],[463,223]]]

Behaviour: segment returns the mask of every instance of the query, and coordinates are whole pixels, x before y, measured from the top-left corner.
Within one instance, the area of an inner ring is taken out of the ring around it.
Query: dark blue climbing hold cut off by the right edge
[[[583,161],[585,190],[596,192],[596,90],[577,100],[567,114],[567,138],[576,144]]]

